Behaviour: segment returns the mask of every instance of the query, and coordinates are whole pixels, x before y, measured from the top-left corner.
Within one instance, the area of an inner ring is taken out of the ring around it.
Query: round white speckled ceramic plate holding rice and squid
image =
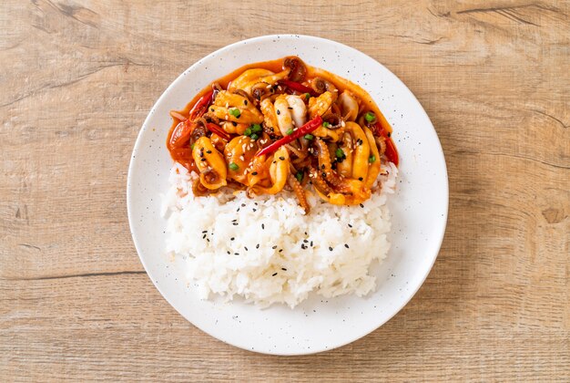
[[[392,124],[401,165],[392,212],[391,250],[372,270],[377,290],[369,296],[324,300],[311,296],[294,309],[260,309],[240,301],[198,299],[181,264],[164,254],[166,220],[160,196],[168,189],[172,160],[165,147],[170,109],[188,101],[216,78],[245,64],[297,55],[359,84]],[[420,288],[439,252],[447,220],[448,183],[440,141],[412,92],[360,51],[312,36],[261,36],[219,49],[180,75],[158,98],[138,134],[127,179],[128,220],[138,255],[158,291],[194,326],[230,345],[279,355],[300,355],[350,343],[382,326]],[[150,305],[151,303],[149,303]]]

